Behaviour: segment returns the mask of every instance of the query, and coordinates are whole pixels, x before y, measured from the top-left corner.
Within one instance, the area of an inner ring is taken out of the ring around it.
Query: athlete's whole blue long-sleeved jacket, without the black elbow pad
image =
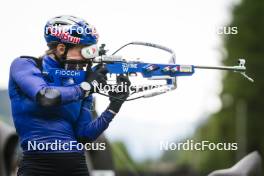
[[[42,65],[43,71],[60,68],[49,56],[43,57]],[[43,107],[36,102],[37,93],[46,88],[60,91],[61,105]],[[13,121],[24,152],[32,152],[33,144],[41,144],[43,147],[43,144],[54,142],[57,142],[55,150],[49,145],[45,145],[44,150],[35,149],[37,152],[80,152],[76,145],[69,148],[68,144],[77,144],[79,138],[95,140],[114,117],[114,114],[106,110],[92,120],[92,96],[83,100],[81,88],[74,83],[64,83],[64,86],[51,85],[37,68],[35,61],[30,58],[17,58],[12,62],[9,96]],[[59,148],[61,144],[65,144],[64,148]]]

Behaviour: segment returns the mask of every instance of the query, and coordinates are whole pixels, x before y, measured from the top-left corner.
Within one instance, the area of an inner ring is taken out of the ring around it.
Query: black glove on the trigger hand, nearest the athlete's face
[[[91,68],[87,69],[86,82],[88,82],[91,86],[89,94],[98,92],[99,88],[104,88],[104,86],[107,84],[107,73],[108,70],[103,66],[96,67],[95,71],[92,71]]]

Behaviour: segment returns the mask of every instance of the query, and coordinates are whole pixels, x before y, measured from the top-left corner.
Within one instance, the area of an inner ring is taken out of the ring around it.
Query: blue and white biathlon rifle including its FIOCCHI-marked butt
[[[159,64],[159,63],[145,63],[141,61],[129,61],[125,58],[116,55],[120,50],[129,46],[129,45],[142,45],[145,47],[152,47],[165,52],[170,53],[171,58],[168,64]],[[105,50],[105,45],[102,44],[99,48],[99,56],[92,59],[93,63],[98,63],[103,67],[106,67],[109,74],[116,75],[137,75],[141,74],[143,78],[150,80],[164,80],[165,84],[162,84],[158,89],[152,90],[151,92],[145,93],[141,96],[130,98],[129,100],[135,100],[138,98],[148,98],[156,95],[160,95],[172,90],[175,90],[177,87],[177,77],[178,76],[191,76],[195,73],[196,69],[214,69],[214,70],[227,70],[240,73],[250,82],[254,82],[252,78],[246,75],[246,61],[245,59],[238,59],[238,65],[236,66],[201,66],[201,65],[179,65],[176,64],[175,53],[172,49],[165,46],[153,43],[146,42],[130,42],[126,45],[123,45],[118,50],[116,50],[111,55],[106,55],[107,50]],[[82,70],[62,70],[62,69],[51,69],[49,71],[49,77],[51,77],[54,82],[59,83],[61,79],[71,77],[74,79],[75,83],[81,83],[85,80],[86,72]],[[137,89],[135,92],[132,92],[130,95],[143,92],[143,89]],[[106,94],[100,93],[101,95],[108,96]]]

